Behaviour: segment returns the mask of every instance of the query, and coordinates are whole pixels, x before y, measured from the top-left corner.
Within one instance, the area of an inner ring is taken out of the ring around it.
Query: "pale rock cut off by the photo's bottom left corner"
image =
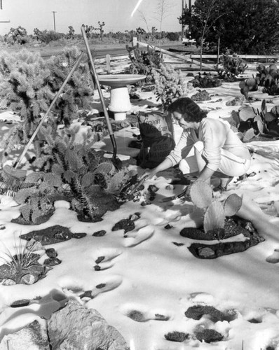
[[[18,332],[5,335],[0,350],[50,350],[46,323],[34,321]]]

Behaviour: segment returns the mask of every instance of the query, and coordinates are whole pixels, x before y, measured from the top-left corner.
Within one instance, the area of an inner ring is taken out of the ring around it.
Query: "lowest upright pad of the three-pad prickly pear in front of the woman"
[[[214,201],[205,211],[203,219],[203,230],[207,233],[210,230],[224,228],[225,214],[224,207],[220,202]]]

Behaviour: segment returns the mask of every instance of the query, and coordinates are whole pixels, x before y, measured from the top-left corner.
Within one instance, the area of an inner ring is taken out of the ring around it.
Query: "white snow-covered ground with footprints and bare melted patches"
[[[207,91],[214,96],[210,102],[200,102],[200,106],[209,111],[208,116],[227,118],[233,109],[238,110],[239,106],[226,106],[229,99],[240,96],[238,83],[224,83]],[[271,100],[261,92],[251,95]],[[150,97],[150,93],[143,94],[142,101],[133,109],[150,104]],[[275,98],[272,102],[268,109],[279,104]],[[260,102],[252,105],[258,106]],[[175,131],[178,137],[179,130]],[[127,146],[135,132],[138,130],[131,127],[116,132],[119,155],[135,155],[137,151]],[[98,146],[110,147],[109,142]],[[0,286],[0,339],[35,318],[50,316],[64,297],[80,300],[83,291],[91,290],[95,297],[83,302],[114,325],[131,350],[264,350],[268,346],[279,349],[279,253],[275,251],[279,249],[279,158],[276,158],[279,141],[254,141],[249,146],[256,151],[247,172],[250,176],[242,181],[234,179],[223,196],[237,193],[243,197],[238,215],[252,221],[265,241],[243,253],[213,260],[195,258],[187,248],[194,240],[179,235],[182,228],[196,225],[190,215],[193,204],[180,199],[161,202],[163,197],[180,193],[184,188],[170,184],[172,169],[145,183],[140,202],[127,202],[120,209],[107,212],[100,223],[79,222],[69,204],[61,201],[56,202],[55,214],[46,223],[18,225],[11,223],[19,215],[16,203],[11,197],[1,196],[2,253],[6,248],[13,251],[20,235],[52,225],[63,225],[72,232],[87,235],[51,245],[62,263],[50,270],[45,279],[31,286]],[[144,170],[138,172],[142,174]],[[140,203],[150,184],[159,190],[152,204],[142,207]],[[118,221],[135,213],[140,213],[140,218],[125,237],[123,230],[111,230]],[[166,225],[170,228],[165,228]],[[93,236],[99,230],[106,234]],[[105,258],[99,263],[100,270],[95,270],[100,257]],[[40,261],[45,259],[43,255]],[[101,283],[105,287],[96,288]],[[32,301],[27,307],[10,307],[20,299]],[[197,304],[210,305],[234,316],[231,321],[217,322],[207,316],[200,320],[186,318],[185,311]],[[200,342],[194,335],[198,328],[217,330],[224,339],[211,344]],[[165,335],[175,331],[189,333],[189,339],[184,342],[165,339]]]

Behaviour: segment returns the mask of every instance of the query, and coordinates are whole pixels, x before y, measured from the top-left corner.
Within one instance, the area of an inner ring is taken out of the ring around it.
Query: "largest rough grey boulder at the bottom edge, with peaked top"
[[[48,336],[53,350],[128,350],[123,336],[95,309],[76,300],[52,314]]]

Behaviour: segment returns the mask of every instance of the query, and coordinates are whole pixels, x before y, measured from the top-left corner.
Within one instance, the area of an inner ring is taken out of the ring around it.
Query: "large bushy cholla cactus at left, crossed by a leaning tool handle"
[[[1,52],[1,106],[16,111],[22,120],[22,123],[15,125],[2,140],[4,153],[11,151],[15,144],[24,145],[29,141],[41,121],[41,115],[48,110],[78,56],[79,50],[74,47],[65,48],[62,55],[48,60],[27,50],[13,52],[12,55]],[[80,64],[53,108],[53,112],[60,117],[58,123],[69,126],[72,118],[76,118],[78,108],[89,106],[93,94],[89,79],[88,64]],[[48,122],[49,120],[50,118]],[[40,146],[37,137],[34,144],[38,156]]]

